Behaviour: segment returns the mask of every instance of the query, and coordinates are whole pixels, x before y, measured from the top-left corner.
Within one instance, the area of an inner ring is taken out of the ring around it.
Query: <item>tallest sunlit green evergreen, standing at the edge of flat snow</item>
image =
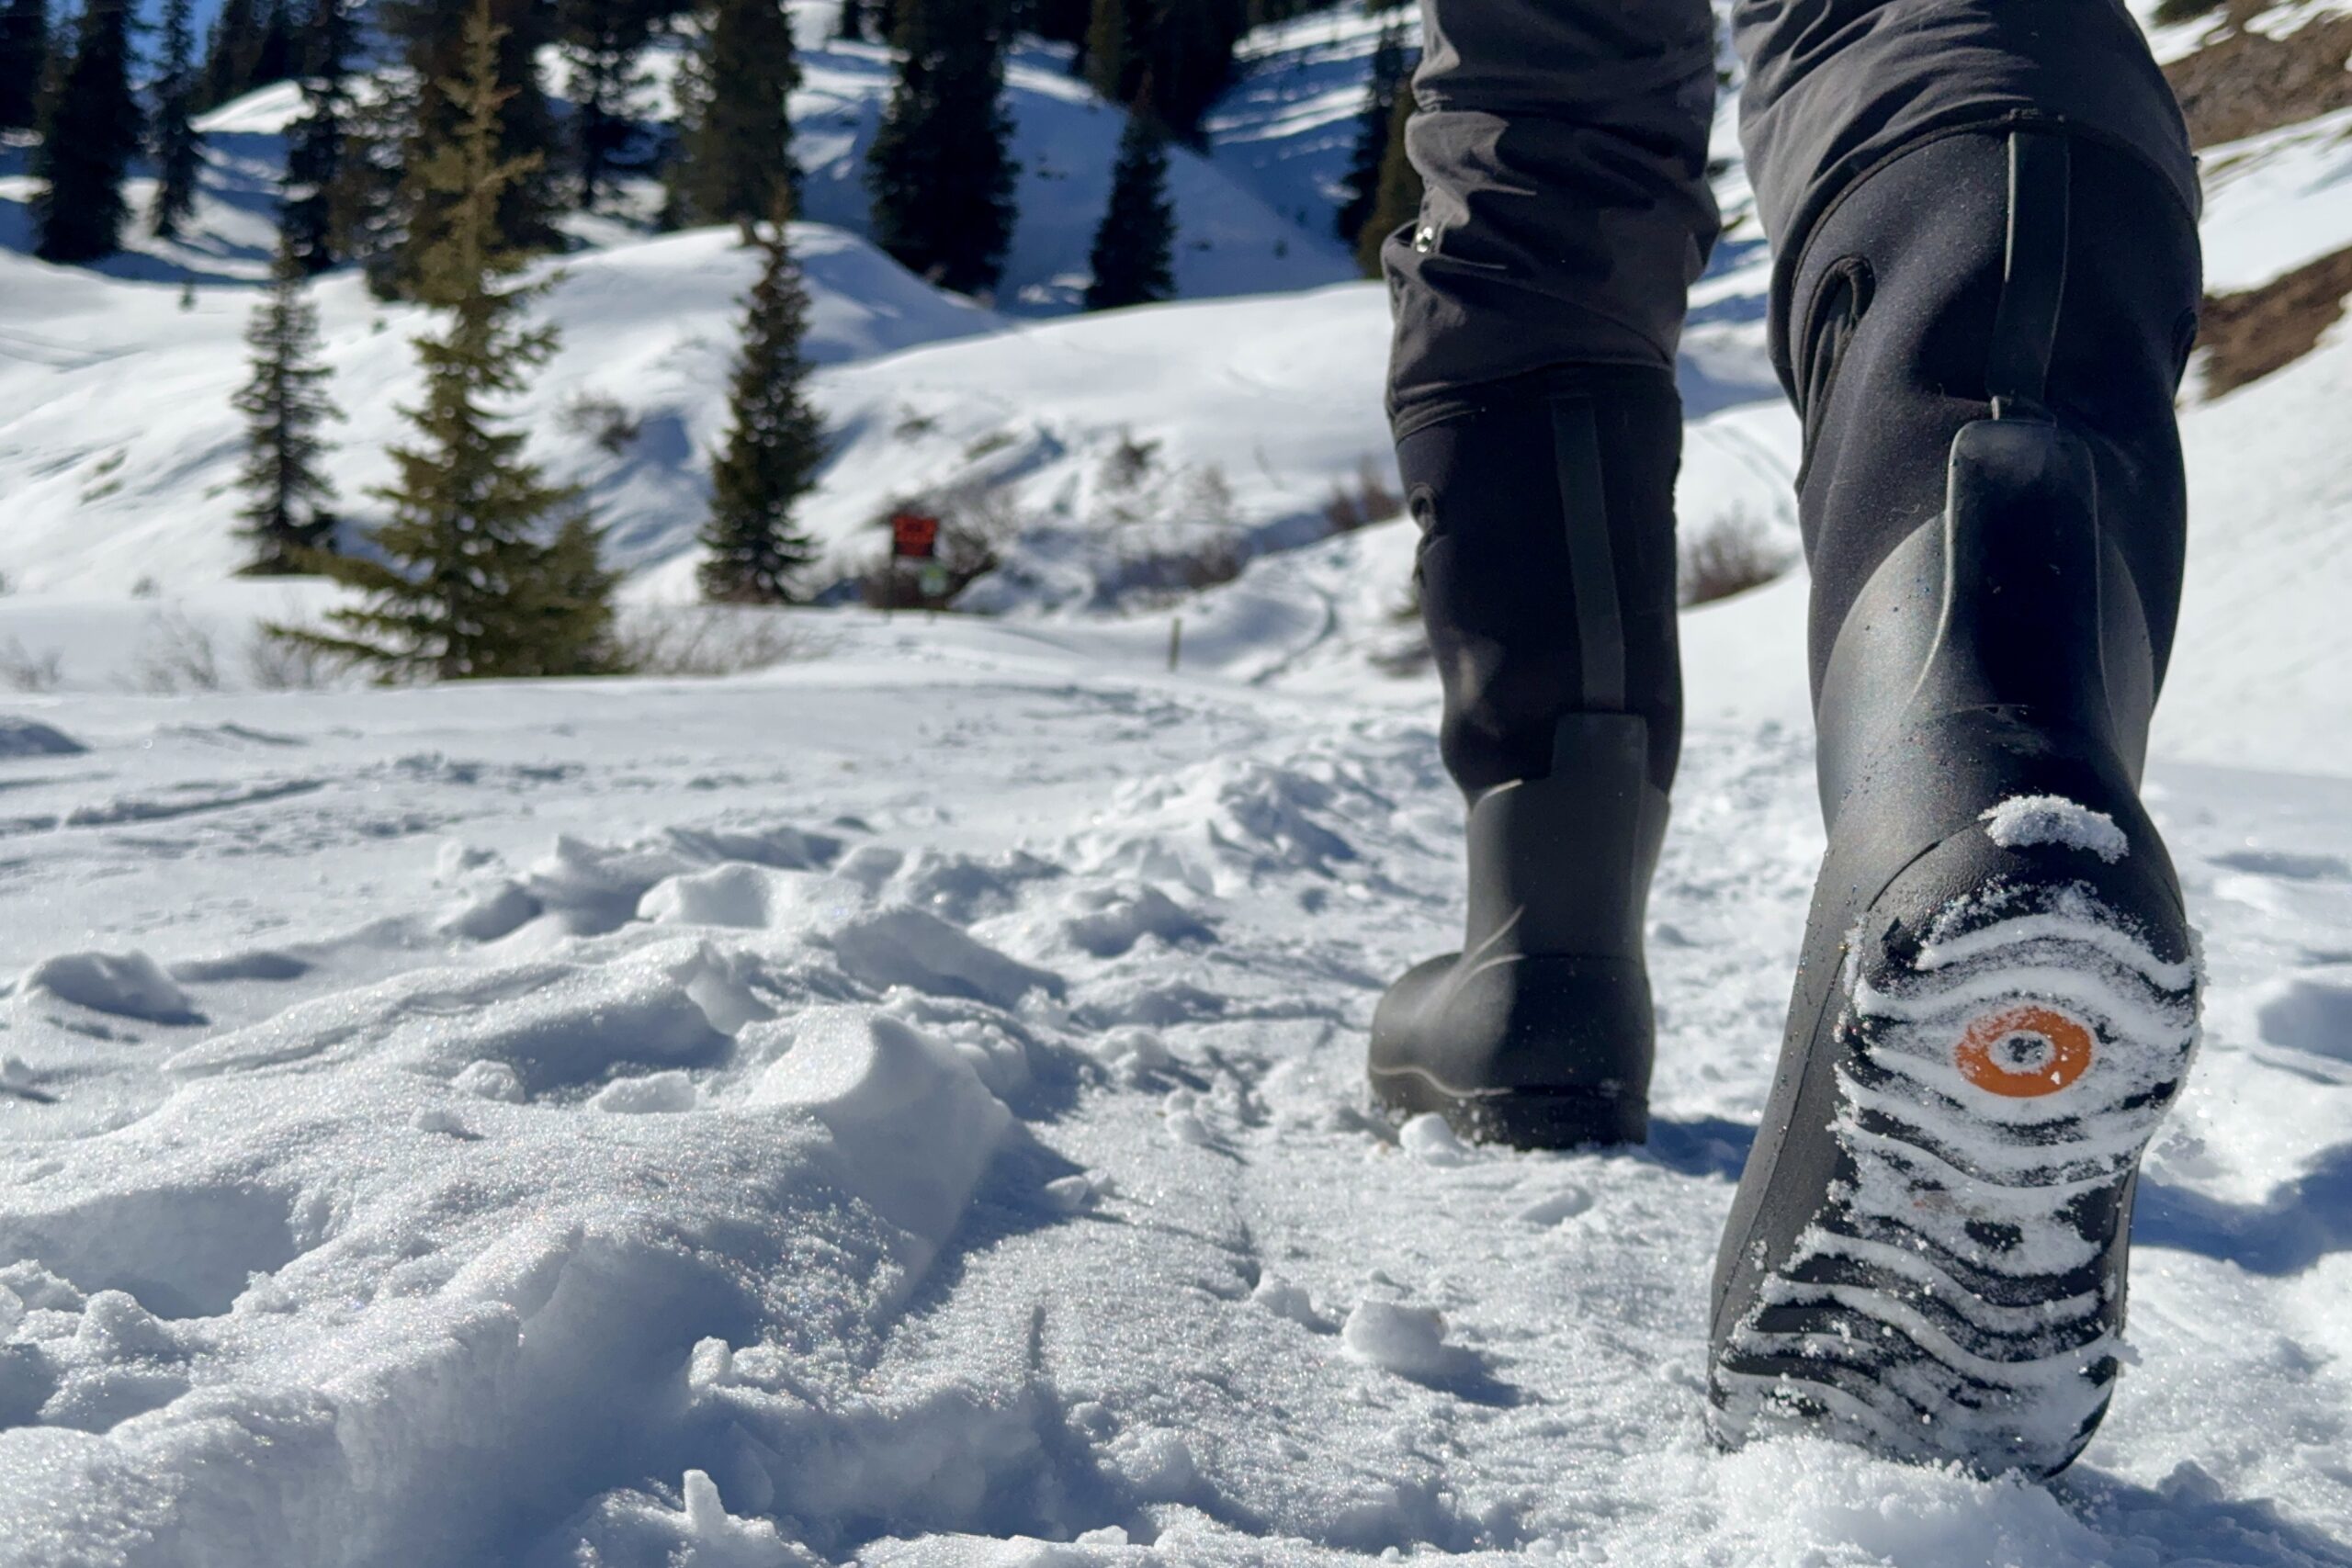
[[[365,604],[327,611],[332,630],[275,628],[383,679],[614,668],[616,576],[600,559],[600,531],[576,491],[548,484],[524,458],[522,430],[487,407],[520,393],[524,374],[555,353],[553,329],[520,320],[543,284],[515,282],[524,252],[499,221],[513,186],[534,174],[534,155],[501,153],[515,87],[492,5],[470,7],[461,75],[442,85],[456,134],[419,169],[437,197],[419,296],[447,320],[416,341],[426,395],[405,409],[416,440],[393,449],[397,482],[376,491],[393,508],[374,531],[381,559],[320,559]]]

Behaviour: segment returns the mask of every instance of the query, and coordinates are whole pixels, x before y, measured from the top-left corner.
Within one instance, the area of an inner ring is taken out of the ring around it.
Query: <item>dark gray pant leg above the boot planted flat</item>
[[[1388,242],[1390,407],[1564,364],[1672,367],[1715,244],[1708,0],[1421,0],[1406,132],[1425,200]]]

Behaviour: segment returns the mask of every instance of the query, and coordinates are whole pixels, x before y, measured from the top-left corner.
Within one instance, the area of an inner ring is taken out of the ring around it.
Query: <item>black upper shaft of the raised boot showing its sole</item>
[[[1825,806],[1839,757],[1860,750],[1846,712],[1870,708],[1846,701],[1853,656],[1839,642],[1849,628],[1940,616],[1950,583],[1926,599],[1893,588],[1931,564],[1980,576],[1959,583],[1962,599],[1992,611],[2004,592],[2058,578],[2032,621],[1955,628],[1990,661],[1980,698],[2049,703],[2105,679],[2107,715],[2082,717],[2136,773],[2187,534],[2173,395],[2197,327],[2199,247],[2171,186],[2129,153],[2049,129],[1955,134],[1851,188],[1792,275],[1780,348],[1806,433],[1799,510]],[[2063,440],[2011,433],[1962,449],[1962,430],[1994,414]],[[1971,508],[1978,491],[1987,503]],[[2079,503],[2042,501],[2060,491]],[[1947,498],[1976,512],[1962,550],[1940,541],[1957,517]],[[1910,654],[1924,656],[1933,644],[1910,625]],[[1924,670],[1867,663],[1872,682]]]

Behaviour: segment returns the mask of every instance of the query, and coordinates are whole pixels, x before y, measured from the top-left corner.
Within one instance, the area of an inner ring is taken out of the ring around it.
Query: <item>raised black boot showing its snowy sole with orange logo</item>
[[[2197,235],[2124,153],[1964,134],[1858,186],[1797,277],[1830,853],[1712,1427],[2051,1474],[2105,1415],[2131,1190],[2197,1046],[2138,799]]]

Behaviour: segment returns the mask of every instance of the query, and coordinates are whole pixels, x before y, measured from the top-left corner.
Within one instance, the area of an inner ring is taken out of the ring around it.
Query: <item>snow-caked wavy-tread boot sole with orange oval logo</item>
[[[1896,947],[1865,938],[1839,976],[1837,1175],[1724,1335],[1715,1436],[2056,1474],[2122,1363],[2131,1190],[2197,1051],[2194,954],[2089,886],[2013,882]]]

